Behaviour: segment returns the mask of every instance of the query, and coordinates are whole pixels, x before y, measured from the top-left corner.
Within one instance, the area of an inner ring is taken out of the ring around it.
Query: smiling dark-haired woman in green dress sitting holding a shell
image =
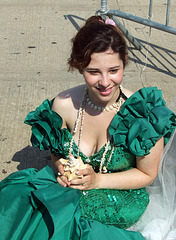
[[[175,115],[157,88],[132,93],[121,87],[128,55],[115,26],[91,17],[72,43],[68,63],[79,70],[85,84],[44,101],[25,119],[32,126],[33,146],[50,148],[57,181],[48,167],[19,171],[3,180],[2,235],[145,239],[128,229],[148,206],[145,187],[158,174]],[[71,179],[65,164],[74,167],[80,159],[83,167],[76,168]]]

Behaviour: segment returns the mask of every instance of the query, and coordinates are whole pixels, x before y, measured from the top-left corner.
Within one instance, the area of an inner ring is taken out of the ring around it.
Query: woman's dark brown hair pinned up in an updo
[[[105,52],[109,48],[119,53],[125,67],[127,45],[120,30],[116,26],[105,24],[100,16],[90,17],[72,39],[69,70],[78,69],[82,73],[89,65],[93,53]]]

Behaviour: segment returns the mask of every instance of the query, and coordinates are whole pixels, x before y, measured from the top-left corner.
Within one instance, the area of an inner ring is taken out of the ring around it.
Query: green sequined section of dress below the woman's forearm
[[[80,207],[82,217],[127,229],[139,220],[148,202],[145,189],[97,189],[82,192]]]

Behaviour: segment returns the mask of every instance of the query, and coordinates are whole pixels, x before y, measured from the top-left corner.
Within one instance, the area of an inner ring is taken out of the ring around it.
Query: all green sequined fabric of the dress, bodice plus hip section
[[[63,129],[65,135],[64,150],[66,157],[69,155],[71,134]],[[95,172],[99,171],[105,146],[99,152],[87,158],[81,151],[80,156],[84,163],[89,163]],[[109,146],[104,166],[107,165],[112,146]],[[77,156],[78,147],[73,144],[73,154]],[[135,156],[123,147],[116,147],[109,162],[108,172],[125,171],[135,166]],[[118,190],[118,189],[93,189],[81,192],[80,208],[81,216],[94,219],[101,223],[114,225],[127,229],[136,223],[149,203],[149,196],[145,189]]]

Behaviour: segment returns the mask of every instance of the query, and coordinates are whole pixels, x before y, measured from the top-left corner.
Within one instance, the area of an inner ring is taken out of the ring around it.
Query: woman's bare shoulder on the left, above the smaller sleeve
[[[76,86],[59,93],[55,97],[52,110],[62,117],[63,127],[69,125],[70,119],[74,118],[84,95],[84,89],[85,85]]]

